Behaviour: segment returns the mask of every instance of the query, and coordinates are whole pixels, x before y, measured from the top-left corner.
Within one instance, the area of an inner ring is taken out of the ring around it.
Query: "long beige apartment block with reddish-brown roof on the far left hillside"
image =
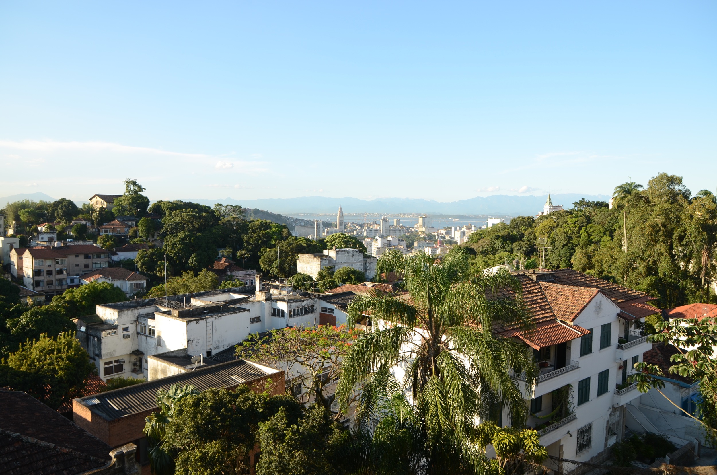
[[[18,276],[25,287],[52,296],[79,286],[80,276],[108,267],[110,253],[96,245],[37,246],[24,248],[22,256],[11,251],[11,261],[12,270],[22,269]]]

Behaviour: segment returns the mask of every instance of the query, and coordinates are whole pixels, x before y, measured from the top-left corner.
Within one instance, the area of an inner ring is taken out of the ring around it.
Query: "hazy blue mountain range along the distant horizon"
[[[268,210],[282,215],[335,213],[339,205],[345,213],[425,213],[427,215],[506,215],[529,216],[543,210],[548,195],[513,196],[494,194],[490,197],[475,197],[454,202],[437,202],[427,199],[409,198],[268,198],[268,199],[192,199],[201,204],[240,204],[242,207]],[[581,198],[590,201],[607,201],[607,194],[553,194],[553,204],[571,208]]]

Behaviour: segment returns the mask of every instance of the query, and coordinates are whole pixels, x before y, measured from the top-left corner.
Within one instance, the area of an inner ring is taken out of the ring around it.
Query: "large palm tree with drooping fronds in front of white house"
[[[462,249],[440,263],[419,254],[396,265],[407,293],[359,296],[347,309],[351,326],[369,315],[374,329],[344,360],[338,399],[345,405],[360,390],[357,415],[364,423],[386,413],[377,395],[386,392],[391,374],[402,375],[396,391],[410,395],[424,417],[431,471],[478,470],[470,449],[478,419],[505,407],[513,425],[526,420],[526,403],[510,371],[526,372],[531,387],[532,354],[494,332],[495,326],[531,326],[520,283],[506,271],[470,276]],[[513,298],[501,296],[506,289]]]

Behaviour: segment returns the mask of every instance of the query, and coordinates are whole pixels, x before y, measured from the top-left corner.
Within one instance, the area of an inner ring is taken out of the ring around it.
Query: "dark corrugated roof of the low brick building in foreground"
[[[189,384],[203,391],[210,387],[232,387],[267,375],[267,372],[250,365],[243,359],[237,359],[219,365],[197,368],[181,375],[163,377],[118,390],[101,392],[87,398],[80,398],[80,402],[106,420],[115,420],[125,415],[156,409],[157,391],[168,389],[171,385]],[[95,400],[97,401],[95,402]]]

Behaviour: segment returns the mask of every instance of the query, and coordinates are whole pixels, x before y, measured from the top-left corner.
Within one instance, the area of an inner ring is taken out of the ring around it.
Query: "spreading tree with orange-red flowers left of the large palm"
[[[300,403],[323,406],[334,420],[341,420],[345,415],[334,403],[336,382],[341,376],[343,359],[359,338],[359,332],[346,325],[275,329],[264,337],[254,334],[237,344],[236,354],[284,370],[287,392]]]

